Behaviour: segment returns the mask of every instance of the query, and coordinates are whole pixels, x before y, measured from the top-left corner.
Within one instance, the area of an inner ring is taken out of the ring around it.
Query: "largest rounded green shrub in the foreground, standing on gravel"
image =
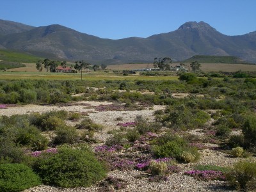
[[[43,154],[34,168],[44,184],[64,188],[88,187],[106,177],[106,170],[87,148],[59,148],[57,154]]]

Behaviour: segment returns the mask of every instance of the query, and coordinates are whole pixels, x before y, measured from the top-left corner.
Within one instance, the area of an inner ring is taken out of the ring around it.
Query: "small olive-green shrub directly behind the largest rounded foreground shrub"
[[[54,138],[54,143],[73,144],[76,143],[77,141],[79,141],[79,134],[75,127],[68,127],[67,125],[64,125],[56,129],[56,137]]]

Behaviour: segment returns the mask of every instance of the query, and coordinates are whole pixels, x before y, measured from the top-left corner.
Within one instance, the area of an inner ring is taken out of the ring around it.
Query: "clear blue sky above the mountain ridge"
[[[166,33],[188,21],[243,35],[256,31],[255,8],[255,0],[1,0],[0,19],[111,39]]]

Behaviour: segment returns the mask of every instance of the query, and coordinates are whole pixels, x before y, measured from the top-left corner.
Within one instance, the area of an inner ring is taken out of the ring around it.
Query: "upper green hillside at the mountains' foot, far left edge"
[[[15,52],[6,49],[0,49],[0,60],[19,63],[36,63],[36,61],[42,60],[42,58],[24,52]]]

